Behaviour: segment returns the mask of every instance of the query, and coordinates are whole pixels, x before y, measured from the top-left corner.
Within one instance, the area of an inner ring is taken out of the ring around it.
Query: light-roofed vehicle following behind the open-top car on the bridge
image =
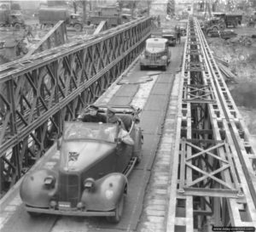
[[[160,67],[166,71],[171,60],[171,53],[166,38],[148,38],[146,48],[140,59],[141,70],[146,67]]]

